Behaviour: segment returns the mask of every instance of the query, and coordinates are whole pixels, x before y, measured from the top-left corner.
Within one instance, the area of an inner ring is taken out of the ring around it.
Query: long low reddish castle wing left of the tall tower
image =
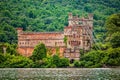
[[[18,28],[18,51],[24,56],[31,56],[34,47],[38,43],[44,43],[47,48],[50,48],[53,54],[56,53],[56,48],[59,47],[60,53],[64,52],[64,35],[62,32],[24,32],[22,28]]]

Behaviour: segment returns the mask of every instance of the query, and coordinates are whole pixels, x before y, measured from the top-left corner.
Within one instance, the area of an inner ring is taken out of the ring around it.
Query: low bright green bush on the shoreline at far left
[[[14,56],[6,54],[6,61],[4,61],[0,67],[6,68],[28,68],[32,67],[33,61],[23,56]]]

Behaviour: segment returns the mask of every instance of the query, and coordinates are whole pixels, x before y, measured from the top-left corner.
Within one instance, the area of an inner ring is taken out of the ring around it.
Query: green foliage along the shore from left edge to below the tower
[[[3,47],[6,46],[6,53]],[[50,56],[46,54],[46,47],[43,43],[36,46],[33,55],[28,58],[18,55],[16,47],[10,44],[0,45],[0,68],[55,68],[68,67],[69,60],[59,55]]]

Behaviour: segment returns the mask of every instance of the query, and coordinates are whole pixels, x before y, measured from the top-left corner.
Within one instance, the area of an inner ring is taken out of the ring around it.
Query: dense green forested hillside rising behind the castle
[[[26,31],[62,31],[68,13],[94,14],[94,32],[103,37],[106,18],[120,12],[119,0],[0,0],[0,42],[16,42],[16,27]],[[8,35],[9,34],[9,35]]]

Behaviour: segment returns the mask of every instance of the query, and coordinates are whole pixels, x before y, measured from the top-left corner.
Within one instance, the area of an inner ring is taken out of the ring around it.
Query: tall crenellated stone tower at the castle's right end
[[[79,18],[68,15],[68,26],[64,28],[64,36],[67,37],[67,46],[64,56],[69,59],[79,60],[80,49],[88,51],[92,45],[93,15],[87,18]]]

